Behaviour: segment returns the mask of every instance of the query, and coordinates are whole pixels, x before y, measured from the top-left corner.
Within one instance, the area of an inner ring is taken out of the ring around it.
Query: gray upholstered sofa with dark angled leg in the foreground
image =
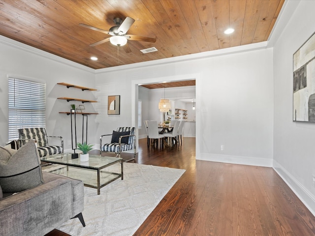
[[[43,236],[70,218],[85,226],[83,182],[42,172],[44,183],[0,199],[0,236]]]

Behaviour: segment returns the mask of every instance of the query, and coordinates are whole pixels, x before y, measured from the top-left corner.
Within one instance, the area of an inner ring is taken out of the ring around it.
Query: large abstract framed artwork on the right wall
[[[315,122],[315,33],[293,54],[293,121]]]

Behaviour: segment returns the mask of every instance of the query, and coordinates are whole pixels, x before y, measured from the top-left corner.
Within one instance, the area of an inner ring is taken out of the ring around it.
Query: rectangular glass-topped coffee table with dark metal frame
[[[40,160],[58,164],[48,168],[48,172],[82,180],[84,186],[96,188],[98,195],[100,188],[120,177],[124,179],[123,158],[90,154],[89,161],[81,162],[80,157],[72,159],[71,154],[44,156]]]

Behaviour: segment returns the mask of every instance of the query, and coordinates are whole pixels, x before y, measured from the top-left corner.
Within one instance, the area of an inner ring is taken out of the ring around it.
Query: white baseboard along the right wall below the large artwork
[[[275,160],[273,161],[273,169],[315,216],[315,196]]]

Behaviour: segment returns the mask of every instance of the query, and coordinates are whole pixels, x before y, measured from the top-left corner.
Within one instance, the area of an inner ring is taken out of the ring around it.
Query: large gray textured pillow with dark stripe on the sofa
[[[15,153],[11,150],[0,147],[0,185],[3,193],[21,192],[44,183],[35,143],[29,141]]]

